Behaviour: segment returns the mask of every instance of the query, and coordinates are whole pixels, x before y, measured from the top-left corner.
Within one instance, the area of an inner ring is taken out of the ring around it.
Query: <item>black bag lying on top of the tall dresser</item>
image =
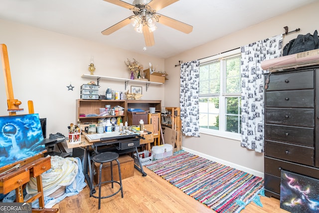
[[[315,30],[314,35],[307,33],[306,35],[298,35],[297,38],[290,40],[283,48],[283,56],[318,48],[319,37],[318,31]]]

